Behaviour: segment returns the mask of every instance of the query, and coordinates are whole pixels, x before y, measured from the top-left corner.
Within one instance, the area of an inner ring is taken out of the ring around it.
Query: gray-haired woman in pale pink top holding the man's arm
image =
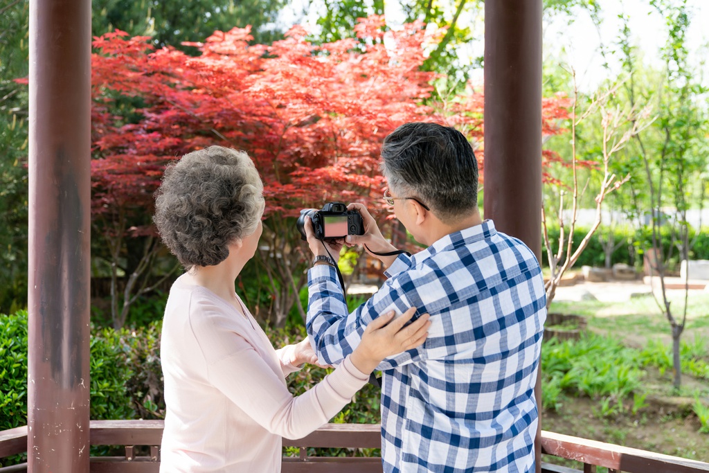
[[[162,326],[161,472],[279,472],[281,436],[326,423],[381,360],[428,334],[428,316],[404,327],[414,309],[376,318],[337,369],[292,396],[286,375],[317,360],[308,339],[274,350],[234,291],[262,233],[262,190],[245,152],[211,146],[168,167],[157,192],[155,223],[186,269]]]

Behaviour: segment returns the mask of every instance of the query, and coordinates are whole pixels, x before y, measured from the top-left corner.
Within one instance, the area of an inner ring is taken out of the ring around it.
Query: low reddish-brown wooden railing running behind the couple
[[[123,445],[121,457],[91,457],[91,473],[157,473],[162,421],[91,421],[91,445]],[[299,440],[286,440],[298,447],[298,457],[284,457],[284,473],[381,473],[379,457],[311,457],[310,447],[378,448],[379,425],[327,424]],[[144,451],[138,453],[137,447]],[[27,451],[27,428],[0,432],[0,458]],[[584,473],[607,467],[609,472],[699,473],[709,472],[709,463],[686,460],[635,448],[586,440],[542,430],[542,453],[583,464]],[[26,472],[26,464],[0,468],[0,473]],[[544,464],[542,472],[578,472],[569,467]]]

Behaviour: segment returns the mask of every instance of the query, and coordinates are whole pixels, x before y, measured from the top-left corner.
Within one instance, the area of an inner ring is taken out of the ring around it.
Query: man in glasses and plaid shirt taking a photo
[[[430,313],[428,340],[379,365],[385,472],[531,472],[534,386],[546,318],[539,262],[481,219],[478,168],[467,139],[436,123],[406,123],[384,140],[386,202],[427,248],[396,253],[362,204],[364,245],[389,278],[350,313],[337,278],[342,242],[315,238],[307,330],[321,362],[337,364],[381,313]],[[514,191],[514,189],[510,189]]]

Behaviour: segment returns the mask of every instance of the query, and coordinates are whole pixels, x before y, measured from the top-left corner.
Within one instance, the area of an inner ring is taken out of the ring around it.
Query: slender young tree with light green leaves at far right
[[[638,223],[642,225],[648,220],[649,242],[638,243],[659,283],[656,301],[671,327],[674,386],[679,389],[680,340],[686,323],[686,304],[681,314],[673,310],[665,278],[673,262],[688,260],[693,241],[687,211],[693,205],[703,204],[706,184],[701,176],[708,165],[707,89],[700,84],[700,76],[688,61],[686,33],[691,11],[686,0],[652,0],[650,4],[665,19],[663,67],[659,72],[647,72],[630,41],[628,18],[623,16],[623,30],[616,48],[623,57],[627,80],[625,95],[619,99],[631,106],[652,104],[657,121],[651,133],[635,136],[625,162],[618,169],[640,169],[641,176],[632,179],[626,201]],[[673,244],[669,247],[662,244],[663,232],[671,235]]]

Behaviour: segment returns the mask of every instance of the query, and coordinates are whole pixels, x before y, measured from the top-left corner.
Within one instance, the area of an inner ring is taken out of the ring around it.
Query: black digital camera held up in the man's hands
[[[318,240],[345,238],[347,235],[364,235],[364,221],[356,210],[347,210],[342,202],[328,202],[322,210],[303,208],[301,216],[296,221],[296,227],[301,233],[301,240],[306,240],[306,230],[303,227],[306,216],[313,221],[313,230]]]

